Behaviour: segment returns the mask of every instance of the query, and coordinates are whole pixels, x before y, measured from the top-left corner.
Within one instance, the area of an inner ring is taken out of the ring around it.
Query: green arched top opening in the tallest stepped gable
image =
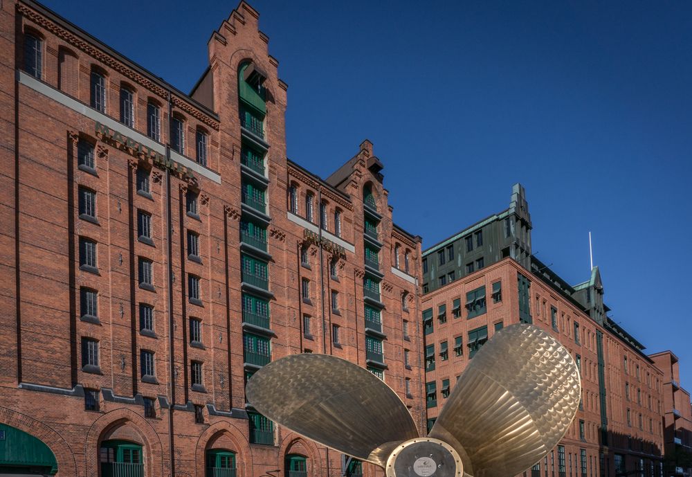
[[[262,86],[265,79],[266,74],[255,63],[245,62],[238,69],[240,124],[261,139],[266,116],[266,90]]]

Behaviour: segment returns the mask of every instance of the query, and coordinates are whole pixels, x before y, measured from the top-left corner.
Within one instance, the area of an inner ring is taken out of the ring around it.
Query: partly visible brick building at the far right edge
[[[671,351],[650,354],[663,371],[663,432],[665,475],[692,476],[692,406],[680,384],[680,362]]]

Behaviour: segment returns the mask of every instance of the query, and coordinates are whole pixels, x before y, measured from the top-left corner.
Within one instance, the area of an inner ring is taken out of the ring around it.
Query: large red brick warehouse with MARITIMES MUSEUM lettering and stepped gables
[[[420,239],[369,141],[327,179],[286,159],[257,12],[221,21],[185,94],[0,5],[0,473],[361,474],[246,404],[299,352],[367,367],[424,429]]]

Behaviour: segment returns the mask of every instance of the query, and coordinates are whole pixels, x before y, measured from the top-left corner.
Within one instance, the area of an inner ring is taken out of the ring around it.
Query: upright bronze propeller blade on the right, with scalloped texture
[[[581,397],[570,352],[532,325],[511,325],[475,354],[430,437],[448,442],[464,474],[511,477],[565,435]]]

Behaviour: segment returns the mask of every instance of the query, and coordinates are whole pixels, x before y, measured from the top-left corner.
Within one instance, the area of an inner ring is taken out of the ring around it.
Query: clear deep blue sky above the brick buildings
[[[237,3],[44,0],[183,91]],[[288,154],[322,177],[363,138],[430,246],[527,189],[537,257],[680,357],[692,390],[692,3],[252,1],[289,84]],[[104,20],[107,19],[107,20]]]

